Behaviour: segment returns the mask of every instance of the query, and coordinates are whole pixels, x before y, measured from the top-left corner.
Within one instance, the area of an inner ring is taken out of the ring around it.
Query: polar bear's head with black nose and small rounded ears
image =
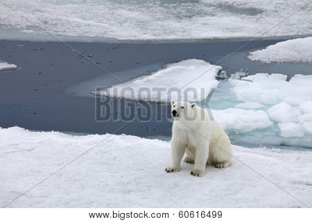
[[[175,120],[196,119],[196,103],[185,101],[171,101],[171,114]]]

